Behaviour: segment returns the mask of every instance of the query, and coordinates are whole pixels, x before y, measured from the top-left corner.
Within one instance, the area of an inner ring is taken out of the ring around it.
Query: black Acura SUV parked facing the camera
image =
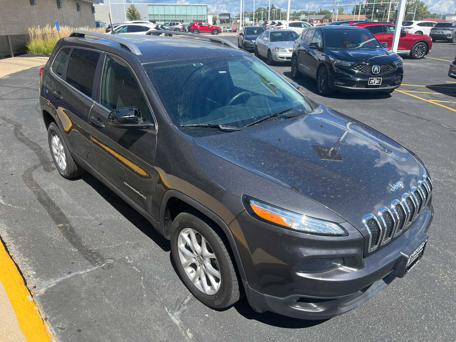
[[[293,46],[291,76],[316,79],[321,95],[333,89],[392,93],[402,83],[402,58],[383,45],[363,27],[309,27]]]

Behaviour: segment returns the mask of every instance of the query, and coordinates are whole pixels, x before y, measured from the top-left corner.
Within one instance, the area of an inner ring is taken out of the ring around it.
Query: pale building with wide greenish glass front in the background
[[[109,23],[108,13],[113,23],[127,21],[126,11],[132,4],[130,0],[104,0],[103,4],[96,5],[95,19]],[[142,20],[156,21],[207,21],[206,4],[145,4],[135,3]]]

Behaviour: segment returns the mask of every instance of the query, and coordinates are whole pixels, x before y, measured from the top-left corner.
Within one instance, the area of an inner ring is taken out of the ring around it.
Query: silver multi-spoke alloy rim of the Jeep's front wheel
[[[196,230],[184,228],[177,238],[177,249],[188,279],[201,292],[215,295],[222,279],[217,257],[207,240]]]

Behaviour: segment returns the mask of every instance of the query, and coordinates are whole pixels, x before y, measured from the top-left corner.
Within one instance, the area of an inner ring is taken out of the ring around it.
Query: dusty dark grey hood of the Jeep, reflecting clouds
[[[321,203],[357,228],[362,228],[363,215],[400,198],[426,173],[394,140],[323,106],[296,118],[193,140],[215,155]],[[335,153],[328,154],[331,148]],[[399,181],[404,189],[392,192],[389,184]]]

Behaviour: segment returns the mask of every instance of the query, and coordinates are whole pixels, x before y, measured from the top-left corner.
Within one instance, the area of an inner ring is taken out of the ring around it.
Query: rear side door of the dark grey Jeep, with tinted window
[[[57,57],[63,61],[61,52]],[[95,158],[88,117],[93,106],[93,80],[99,57],[100,52],[73,48],[66,67],[57,58],[51,67],[57,75],[61,73],[51,89],[50,102],[62,122],[62,134],[66,135],[69,149],[91,166],[95,166]]]

